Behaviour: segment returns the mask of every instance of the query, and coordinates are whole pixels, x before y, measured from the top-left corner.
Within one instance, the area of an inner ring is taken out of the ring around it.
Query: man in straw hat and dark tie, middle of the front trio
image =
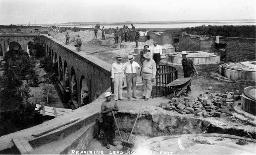
[[[127,85],[127,98],[131,99],[131,91],[132,91],[132,97],[136,97],[136,80],[137,75],[136,71],[137,69],[141,69],[139,64],[134,61],[133,55],[128,55],[128,62],[124,63],[123,69],[124,74],[126,75],[126,85]]]

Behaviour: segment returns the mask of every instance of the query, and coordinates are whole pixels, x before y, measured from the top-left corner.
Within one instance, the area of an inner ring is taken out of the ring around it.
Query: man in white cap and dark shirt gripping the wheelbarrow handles
[[[193,60],[191,58],[187,58],[187,52],[186,51],[182,51],[181,52],[182,55],[182,67],[183,67],[183,73],[184,73],[184,77],[193,77],[194,76],[194,71],[193,69],[195,69],[195,73],[198,75],[197,69],[193,63]],[[191,83],[187,86],[187,93],[191,94]]]

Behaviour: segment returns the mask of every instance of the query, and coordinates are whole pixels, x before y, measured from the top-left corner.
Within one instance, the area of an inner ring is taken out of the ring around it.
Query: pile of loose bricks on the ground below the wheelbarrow
[[[222,106],[232,106],[234,98],[240,95],[235,95],[233,92],[221,93],[215,91],[210,93],[206,91],[200,94],[197,98],[191,97],[172,98],[168,103],[161,103],[161,107],[166,110],[175,110],[181,114],[194,114],[203,117],[225,117]]]

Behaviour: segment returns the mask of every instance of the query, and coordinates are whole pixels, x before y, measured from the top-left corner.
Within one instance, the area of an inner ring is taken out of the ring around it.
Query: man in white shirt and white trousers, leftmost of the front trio
[[[124,70],[123,64],[121,63],[122,57],[117,56],[117,61],[112,64],[111,69],[111,78],[112,82],[114,82],[114,99],[115,100],[123,100],[122,99],[122,82],[124,78]]]

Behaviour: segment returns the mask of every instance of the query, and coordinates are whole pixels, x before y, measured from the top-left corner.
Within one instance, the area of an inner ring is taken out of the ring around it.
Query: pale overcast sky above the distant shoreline
[[[0,0],[0,25],[255,20],[255,0]]]

